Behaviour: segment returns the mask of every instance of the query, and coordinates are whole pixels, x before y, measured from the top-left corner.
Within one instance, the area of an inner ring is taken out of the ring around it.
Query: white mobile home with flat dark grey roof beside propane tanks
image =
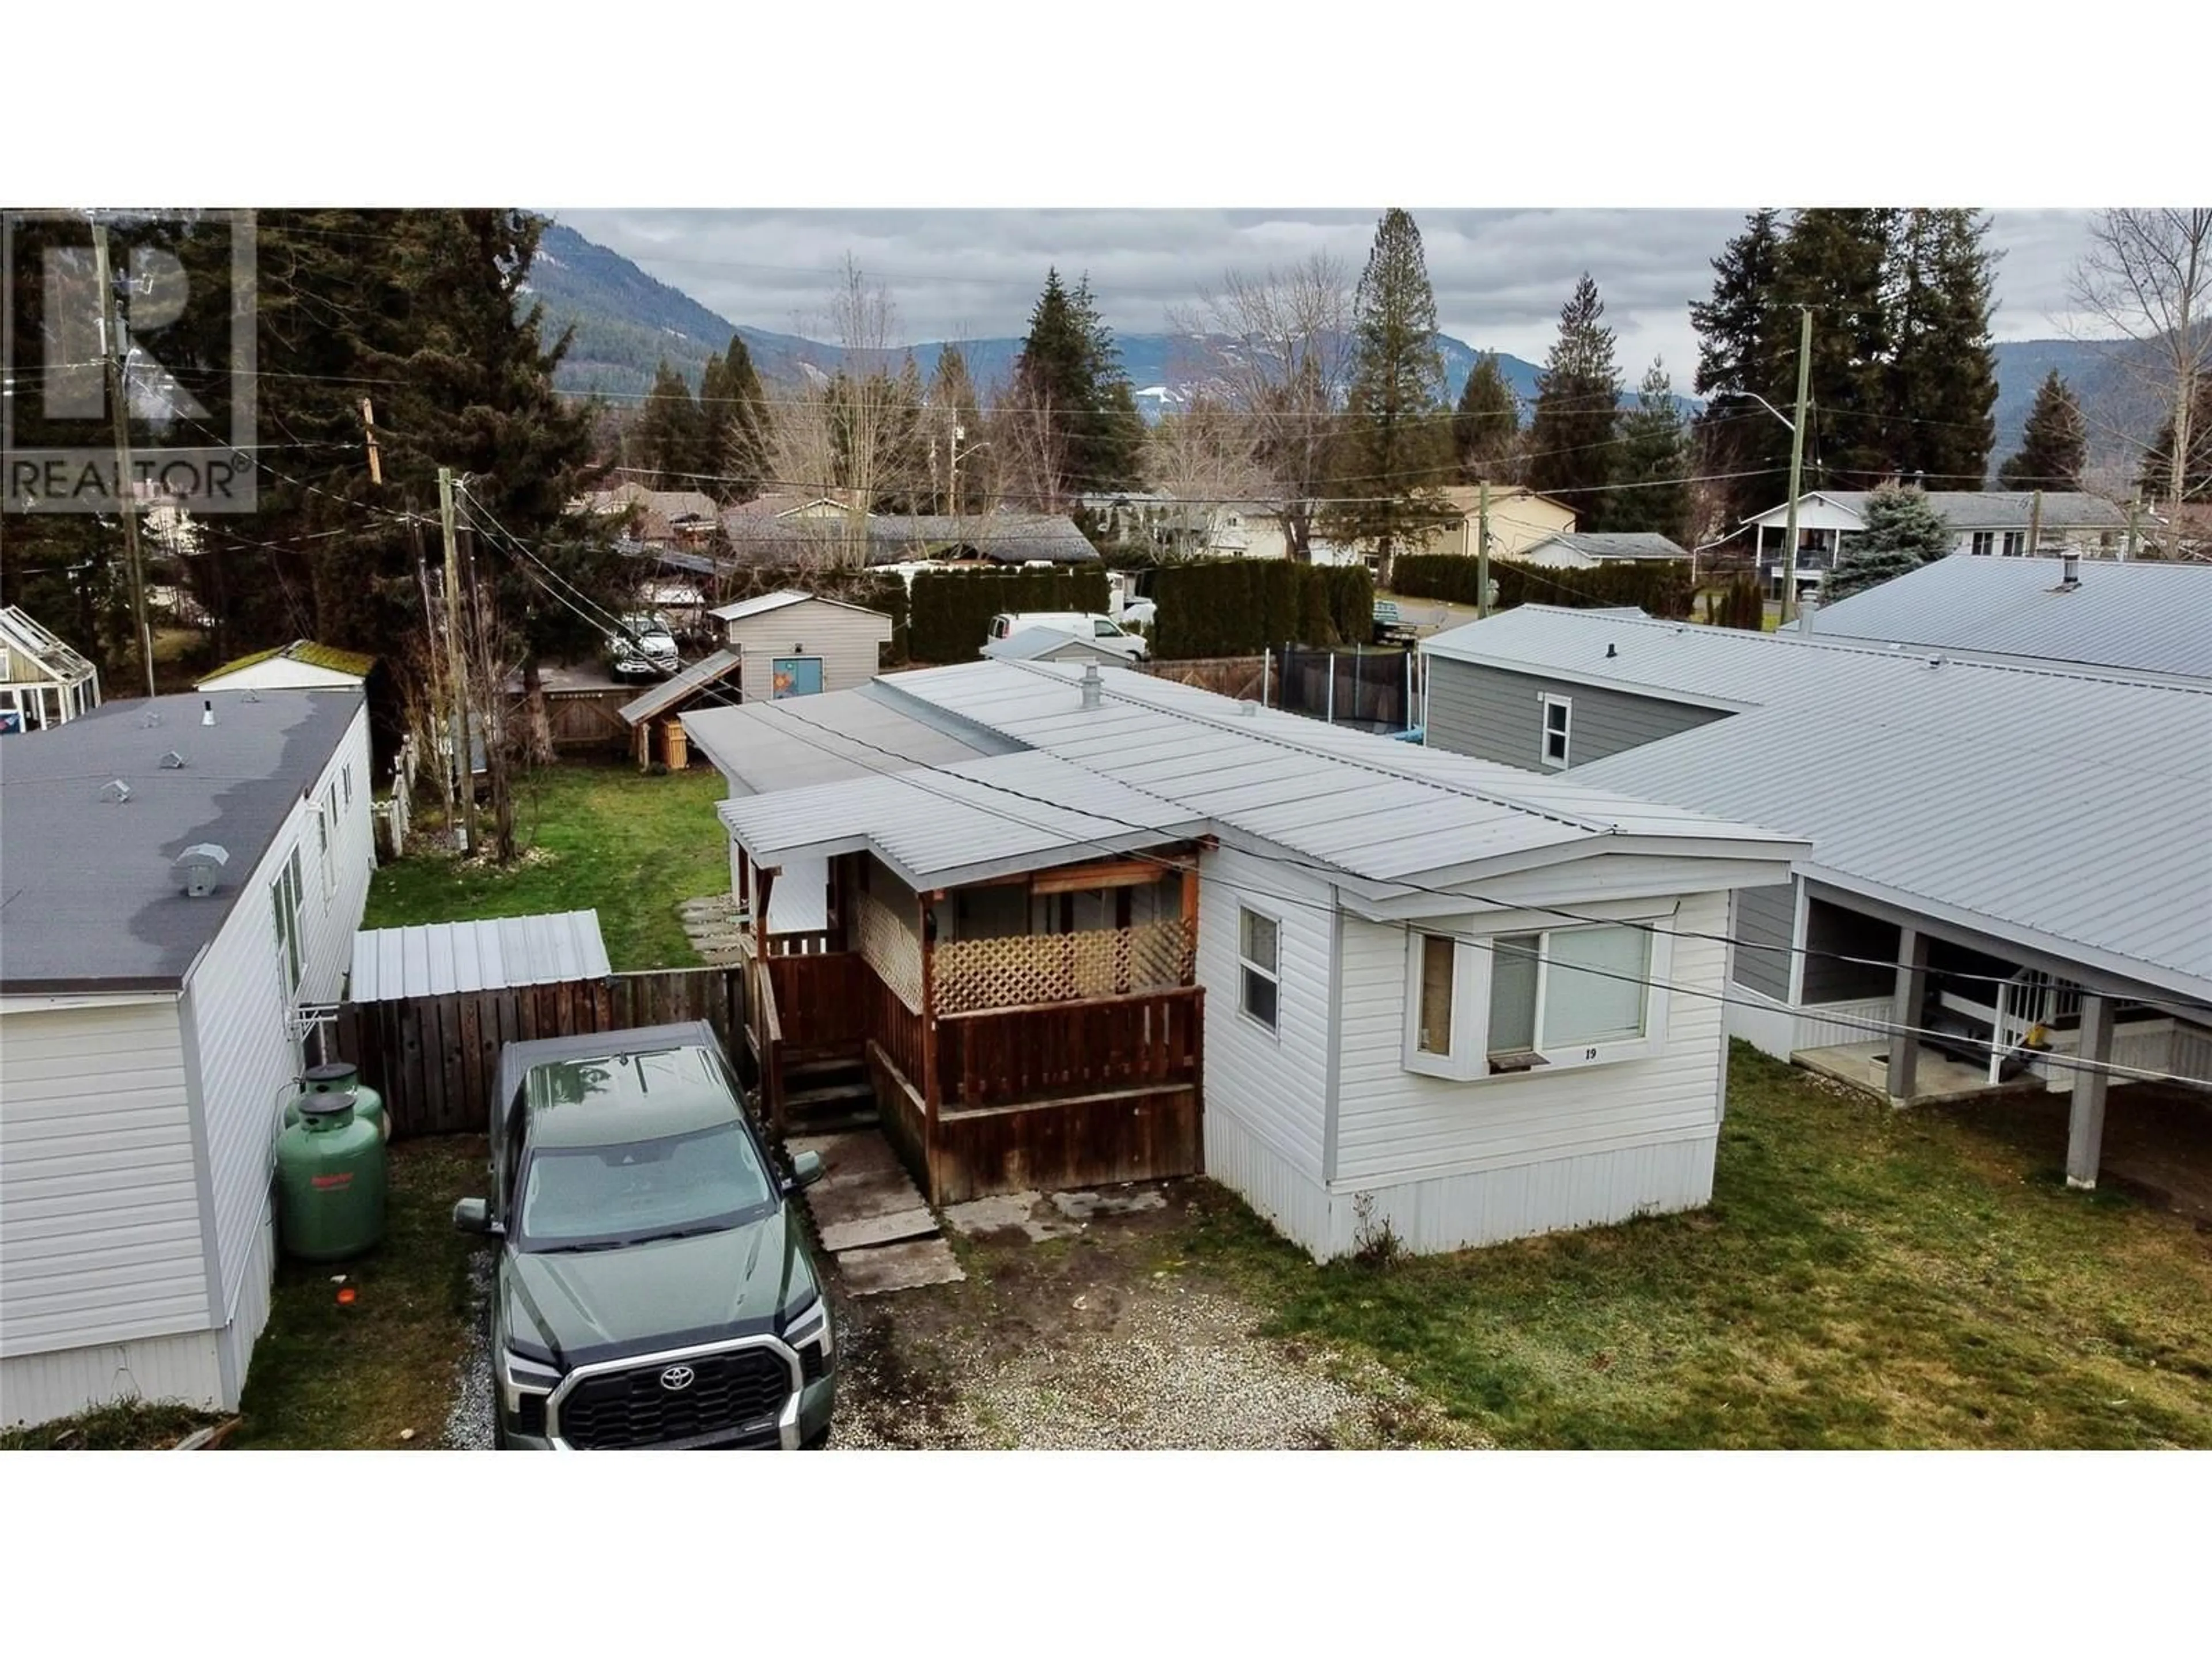
[[[338,1000],[374,843],[361,690],[257,697],[111,703],[9,741],[11,1422],[133,1396],[232,1409],[268,1318],[270,1150],[312,1011]],[[226,858],[188,896],[177,854],[204,845]]]

